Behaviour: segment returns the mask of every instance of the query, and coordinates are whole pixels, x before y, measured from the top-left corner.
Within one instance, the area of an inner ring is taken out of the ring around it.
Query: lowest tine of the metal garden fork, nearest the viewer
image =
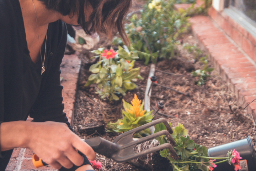
[[[142,152],[126,156],[126,157],[120,157],[120,156],[115,157],[115,156],[113,156],[113,159],[118,161],[118,162],[128,161],[128,160],[132,160],[132,159],[137,159],[140,156],[143,156],[143,155],[146,155],[146,154],[149,154],[149,153],[154,153],[154,152],[157,152],[159,150],[166,149],[166,148],[169,149],[172,159],[174,159],[174,160],[179,159],[178,154],[175,152],[174,148],[169,143],[164,143],[164,144],[161,144],[160,146],[156,146],[156,147],[153,147],[153,148],[150,148],[150,149],[144,150]]]

